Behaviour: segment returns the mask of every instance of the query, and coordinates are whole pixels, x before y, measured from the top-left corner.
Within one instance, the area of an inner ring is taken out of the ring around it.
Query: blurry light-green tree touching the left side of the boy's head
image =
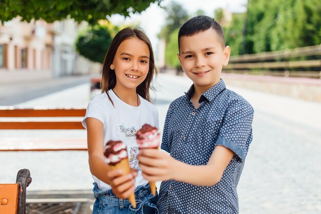
[[[166,65],[171,66],[176,69],[180,68],[180,63],[177,58],[177,53],[178,53],[177,37],[178,37],[178,29],[174,30],[170,34],[169,40],[166,43],[166,48],[165,48]]]

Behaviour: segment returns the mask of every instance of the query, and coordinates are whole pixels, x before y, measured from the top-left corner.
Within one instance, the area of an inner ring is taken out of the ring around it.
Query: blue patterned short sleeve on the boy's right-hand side
[[[240,161],[244,161],[252,141],[253,115],[254,110],[249,103],[236,101],[232,104],[225,115],[215,144],[231,149]]]

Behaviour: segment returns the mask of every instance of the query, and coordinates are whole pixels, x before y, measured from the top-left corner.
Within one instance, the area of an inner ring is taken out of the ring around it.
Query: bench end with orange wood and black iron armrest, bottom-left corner
[[[21,169],[17,173],[15,184],[0,184],[1,214],[26,213],[26,188],[31,180],[30,171]]]

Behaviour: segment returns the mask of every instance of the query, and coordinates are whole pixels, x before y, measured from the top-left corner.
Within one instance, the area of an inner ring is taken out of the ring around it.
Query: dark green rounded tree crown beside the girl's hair
[[[76,50],[87,59],[103,63],[111,44],[111,31],[107,26],[95,25],[78,35]]]

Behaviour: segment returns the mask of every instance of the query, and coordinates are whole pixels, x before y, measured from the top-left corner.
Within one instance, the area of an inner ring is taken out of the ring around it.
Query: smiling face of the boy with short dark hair
[[[229,62],[230,47],[222,47],[220,38],[212,28],[193,36],[179,39],[178,60],[195,89],[208,90],[220,81],[223,65]]]

